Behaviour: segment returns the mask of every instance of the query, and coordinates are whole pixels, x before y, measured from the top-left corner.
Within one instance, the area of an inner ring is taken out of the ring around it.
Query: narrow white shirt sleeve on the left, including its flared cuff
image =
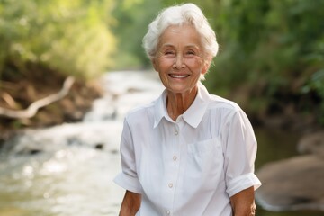
[[[121,173],[113,179],[113,182],[133,193],[142,193],[136,171],[136,157],[130,125],[126,118],[121,133]]]

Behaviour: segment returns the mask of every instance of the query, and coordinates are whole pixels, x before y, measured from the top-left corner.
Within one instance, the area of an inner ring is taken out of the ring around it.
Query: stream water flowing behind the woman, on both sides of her
[[[154,72],[111,72],[102,82],[106,94],[84,121],[26,130],[5,143],[0,153],[0,216],[118,215],[124,191],[112,179],[121,169],[123,116],[157,98],[163,87]],[[298,136],[256,131],[257,167],[296,154]],[[324,214],[259,208],[257,215]]]

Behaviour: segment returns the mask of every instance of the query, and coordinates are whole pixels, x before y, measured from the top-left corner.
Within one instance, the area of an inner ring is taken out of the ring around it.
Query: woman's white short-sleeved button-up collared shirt
[[[173,121],[166,91],[125,118],[122,172],[114,179],[142,194],[140,216],[229,216],[229,197],[261,185],[254,175],[257,140],[236,103],[199,84],[189,109]]]

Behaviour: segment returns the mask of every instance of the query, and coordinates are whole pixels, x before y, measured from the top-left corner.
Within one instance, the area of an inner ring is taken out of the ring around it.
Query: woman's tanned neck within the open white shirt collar
[[[177,117],[182,115],[193,104],[197,93],[198,86],[185,93],[167,91],[166,110],[173,121],[176,121]]]

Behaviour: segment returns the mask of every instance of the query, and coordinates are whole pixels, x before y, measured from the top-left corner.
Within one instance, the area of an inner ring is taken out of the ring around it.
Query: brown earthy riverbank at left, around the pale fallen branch
[[[62,88],[64,76],[50,71],[26,76],[2,77],[0,80],[0,107],[10,110],[26,109],[31,103]],[[103,94],[95,80],[77,79],[67,96],[41,108],[29,119],[13,119],[0,116],[0,145],[17,131],[26,128],[44,128],[63,122],[81,121],[94,100]]]

